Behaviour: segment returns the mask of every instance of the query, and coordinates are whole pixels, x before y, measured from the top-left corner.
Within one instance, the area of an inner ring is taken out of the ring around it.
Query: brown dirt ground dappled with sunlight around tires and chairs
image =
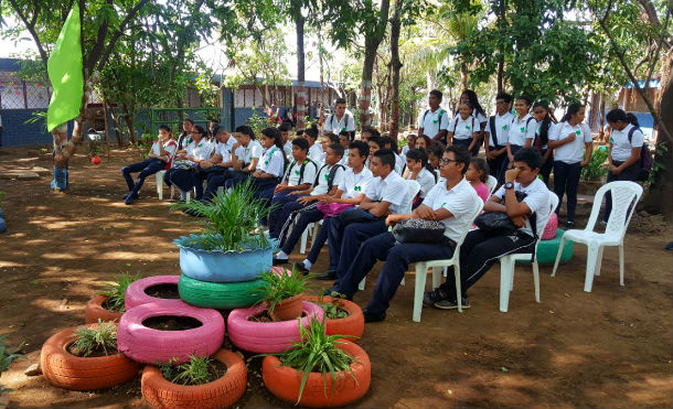
[[[36,150],[0,149],[0,169],[51,169],[39,157]],[[153,177],[137,204],[124,205],[119,169],[137,159],[132,151],[113,151],[93,165],[77,155],[67,194],[50,193],[49,175],[0,180],[8,225],[0,235],[0,334],[26,354],[0,379],[14,389],[11,408],[147,407],[140,377],[76,392],[23,374],[49,336],[84,323],[85,303],[104,282],[122,271],[180,273],[171,240],[195,229],[194,219],[157,200]],[[499,311],[493,268],[470,289],[471,309],[461,314],[426,308],[414,323],[409,271],[386,321],[366,325],[361,345],[372,362],[372,386],[354,407],[672,407],[673,255],[663,249],[672,228],[645,222],[634,220],[640,227],[626,238],[626,287],[619,286],[618,252],[610,248],[592,292],[584,292],[586,248],[576,246],[556,277],[549,277],[549,266],[541,268],[540,304],[531,268],[517,267],[509,313]],[[316,272],[327,267],[325,251]],[[291,259],[302,257],[295,252]],[[355,295],[362,306],[372,277]],[[320,282],[313,284],[318,292]],[[259,358],[249,365],[249,390],[236,407],[290,407],[261,387]]]

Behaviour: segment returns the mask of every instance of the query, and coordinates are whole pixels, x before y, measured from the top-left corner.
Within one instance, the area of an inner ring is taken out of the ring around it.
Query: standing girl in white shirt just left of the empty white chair
[[[591,160],[594,148],[591,130],[584,123],[585,107],[579,103],[570,104],[566,115],[549,134],[548,146],[554,149],[554,193],[558,196],[556,215],[567,198],[567,227],[575,226],[577,207],[577,186],[581,169]]]

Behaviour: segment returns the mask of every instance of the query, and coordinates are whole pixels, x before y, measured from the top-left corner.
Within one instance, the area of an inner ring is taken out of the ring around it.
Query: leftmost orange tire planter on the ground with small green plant
[[[117,351],[117,325],[98,321],[54,334],[40,354],[44,377],[73,390],[95,390],[122,384],[138,374],[139,364]]]

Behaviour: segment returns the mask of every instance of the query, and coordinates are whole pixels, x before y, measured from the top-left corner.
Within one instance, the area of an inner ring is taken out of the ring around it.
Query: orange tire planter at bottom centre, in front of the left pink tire
[[[226,408],[245,392],[245,363],[231,351],[172,364],[147,365],[142,372],[142,397],[152,408]]]

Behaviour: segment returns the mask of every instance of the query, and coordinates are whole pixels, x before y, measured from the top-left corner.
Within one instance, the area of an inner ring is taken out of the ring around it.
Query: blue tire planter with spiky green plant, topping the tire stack
[[[174,208],[203,216],[205,232],[180,237],[180,268],[189,278],[209,282],[252,281],[271,268],[278,240],[261,233],[259,220],[270,213],[249,181],[210,203],[191,201]]]

